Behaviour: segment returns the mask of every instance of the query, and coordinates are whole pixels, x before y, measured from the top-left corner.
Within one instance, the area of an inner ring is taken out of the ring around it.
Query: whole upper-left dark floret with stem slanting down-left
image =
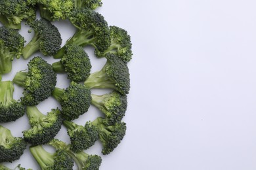
[[[42,52],[45,56],[56,54],[62,44],[62,38],[57,27],[44,19],[35,20],[30,26],[35,34],[32,40],[23,48],[23,58],[28,59],[38,51]]]

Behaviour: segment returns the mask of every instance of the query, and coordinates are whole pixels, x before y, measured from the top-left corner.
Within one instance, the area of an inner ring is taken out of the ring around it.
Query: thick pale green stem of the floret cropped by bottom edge
[[[40,165],[41,169],[47,169],[47,165],[53,165],[53,155],[47,152],[43,146],[37,145],[30,147],[30,152],[32,153],[33,157]]]

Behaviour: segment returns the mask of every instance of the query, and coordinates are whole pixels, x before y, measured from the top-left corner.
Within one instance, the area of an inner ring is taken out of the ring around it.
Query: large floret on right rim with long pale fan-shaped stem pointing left
[[[121,94],[130,90],[130,74],[127,64],[114,54],[106,54],[106,64],[95,73],[92,73],[84,84],[88,88],[112,88]]]

